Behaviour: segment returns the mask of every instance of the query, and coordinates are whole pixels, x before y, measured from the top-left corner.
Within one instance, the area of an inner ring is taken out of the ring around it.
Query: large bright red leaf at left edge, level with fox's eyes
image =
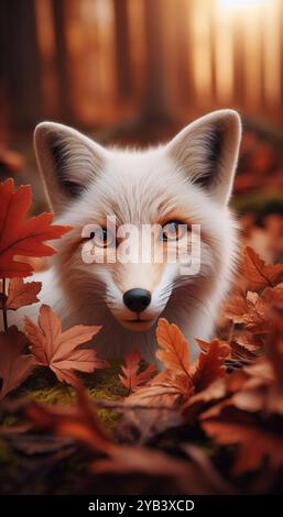
[[[40,257],[55,250],[45,241],[61,238],[70,227],[51,226],[52,213],[28,219],[32,201],[31,186],[14,190],[13,179],[0,184],[0,277],[24,277],[33,273],[31,264],[15,260],[18,255]]]

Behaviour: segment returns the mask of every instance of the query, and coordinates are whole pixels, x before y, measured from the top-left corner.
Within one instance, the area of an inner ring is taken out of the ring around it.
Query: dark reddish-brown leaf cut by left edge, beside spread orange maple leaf
[[[36,366],[33,355],[23,354],[26,343],[26,337],[14,326],[0,332],[0,399],[17,388]]]

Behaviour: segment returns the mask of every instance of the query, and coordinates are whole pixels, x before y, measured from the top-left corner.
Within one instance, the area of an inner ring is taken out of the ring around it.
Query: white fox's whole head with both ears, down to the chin
[[[53,264],[65,315],[137,333],[161,314],[181,327],[189,316],[214,319],[236,257],[227,205],[240,134],[232,110],[145,151],[105,148],[65,125],[37,125],[50,205],[73,227]]]

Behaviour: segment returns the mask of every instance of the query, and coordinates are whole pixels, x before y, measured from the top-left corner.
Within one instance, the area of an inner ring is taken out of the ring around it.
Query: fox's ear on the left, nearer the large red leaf
[[[67,125],[42,122],[34,131],[34,148],[51,208],[59,213],[98,174],[106,150]]]

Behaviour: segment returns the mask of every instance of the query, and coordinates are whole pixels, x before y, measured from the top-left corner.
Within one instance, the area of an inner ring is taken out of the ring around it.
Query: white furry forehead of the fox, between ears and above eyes
[[[112,152],[72,211],[89,222],[115,216],[118,224],[154,224],[170,219],[197,223],[204,201],[198,190],[159,150]]]

